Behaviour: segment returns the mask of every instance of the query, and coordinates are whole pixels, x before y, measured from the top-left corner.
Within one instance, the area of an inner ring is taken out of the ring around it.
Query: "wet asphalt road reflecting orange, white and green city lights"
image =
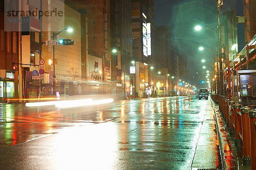
[[[209,100],[56,109],[0,106],[0,169],[221,169]]]

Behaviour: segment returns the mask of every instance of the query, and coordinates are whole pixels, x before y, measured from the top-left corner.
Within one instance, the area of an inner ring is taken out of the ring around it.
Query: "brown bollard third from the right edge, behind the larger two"
[[[233,116],[234,116],[234,124],[233,124],[233,127],[234,127],[234,131],[235,131],[235,145],[238,146],[239,145],[239,134],[238,133],[241,133],[241,116],[239,116],[238,112],[240,113],[240,108],[241,108],[241,105],[240,104],[235,104],[233,105]],[[240,113],[241,114],[241,113]]]

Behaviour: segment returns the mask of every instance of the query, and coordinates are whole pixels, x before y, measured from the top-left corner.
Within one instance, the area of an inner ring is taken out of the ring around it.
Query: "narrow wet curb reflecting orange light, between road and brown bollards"
[[[219,112],[218,106],[210,98],[212,102],[212,108],[214,110],[216,128],[218,133],[219,147],[221,153],[221,163],[224,170],[236,170],[236,164],[233,157],[232,150],[230,149],[230,144],[227,139],[227,135],[224,131],[224,124]]]

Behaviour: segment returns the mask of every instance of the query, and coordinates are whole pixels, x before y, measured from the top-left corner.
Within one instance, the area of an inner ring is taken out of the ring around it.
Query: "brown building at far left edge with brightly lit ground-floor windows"
[[[18,6],[16,1],[10,1],[9,6]],[[6,98],[19,96],[19,71],[12,70],[12,63],[15,62],[17,67],[19,63],[19,31],[5,27],[4,1],[0,1],[0,102],[4,102]],[[18,28],[17,23],[12,23],[12,27]],[[20,79],[21,80],[21,79]],[[20,91],[20,94],[22,92]]]

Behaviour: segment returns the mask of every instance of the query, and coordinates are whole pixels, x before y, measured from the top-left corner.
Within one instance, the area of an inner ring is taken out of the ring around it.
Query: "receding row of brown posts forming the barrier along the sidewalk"
[[[251,170],[256,170],[256,109],[235,104],[221,95],[212,95],[213,101],[214,97],[219,101],[219,109],[227,120],[230,133],[234,131],[235,145],[242,144],[242,165],[250,165]]]

